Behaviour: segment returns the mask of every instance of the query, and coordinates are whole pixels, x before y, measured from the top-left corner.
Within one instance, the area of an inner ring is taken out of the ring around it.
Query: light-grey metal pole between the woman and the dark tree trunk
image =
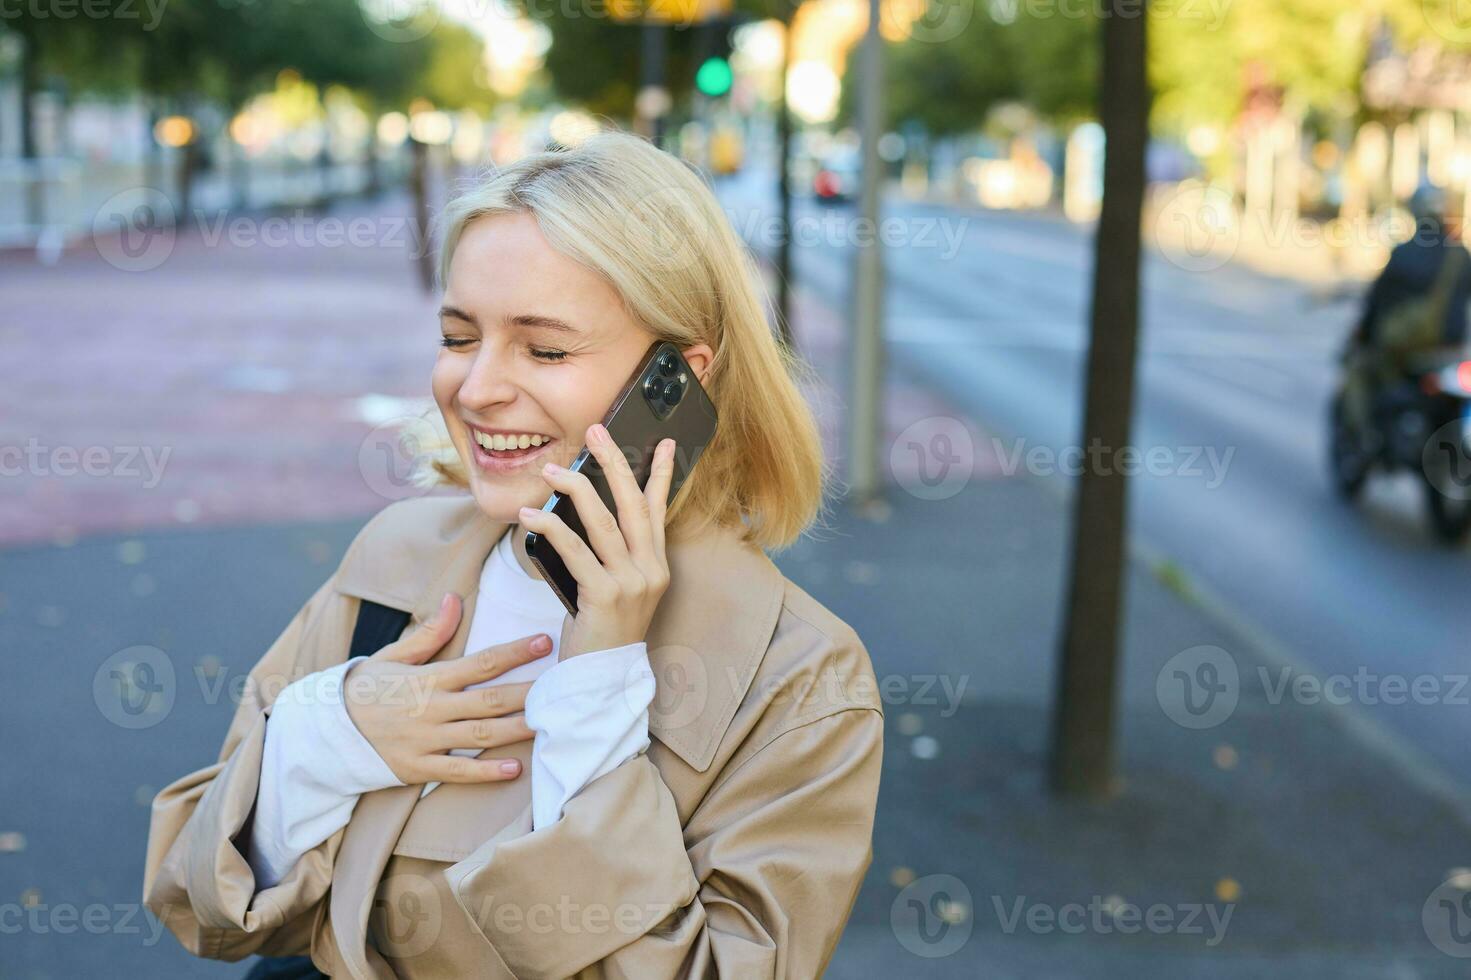
[[[859,199],[858,259],[853,268],[852,403],[849,405],[849,493],[855,503],[872,503],[881,491],[878,444],[884,422],[884,256],[878,240],[883,162],[884,49],[878,35],[880,0],[868,1],[859,72],[859,129],[863,140],[863,184]]]

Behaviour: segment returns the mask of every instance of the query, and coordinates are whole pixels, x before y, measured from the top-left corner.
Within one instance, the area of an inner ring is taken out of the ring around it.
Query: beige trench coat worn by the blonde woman
[[[310,954],[340,977],[815,977],[871,859],[883,703],[858,634],[733,531],[666,546],[650,746],[531,830],[515,780],[366,793],[256,893],[241,855],[272,699],[340,664],[359,600],[465,596],[505,524],[468,496],[388,506],[250,674],[219,761],[153,802],[144,902],[191,952]],[[571,617],[563,619],[563,637]],[[484,753],[530,762],[531,742]]]

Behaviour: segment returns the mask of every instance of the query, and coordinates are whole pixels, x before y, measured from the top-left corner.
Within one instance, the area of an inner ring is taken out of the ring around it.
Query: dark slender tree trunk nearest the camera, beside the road
[[[1052,734],[1058,793],[1114,792],[1115,678],[1121,642],[1128,483],[1115,453],[1130,444],[1139,338],[1140,210],[1149,138],[1144,9],[1103,18],[1103,203],[1093,241],[1091,341],[1083,412],[1083,475],[1072,514]],[[1094,446],[1108,462],[1094,465]]]

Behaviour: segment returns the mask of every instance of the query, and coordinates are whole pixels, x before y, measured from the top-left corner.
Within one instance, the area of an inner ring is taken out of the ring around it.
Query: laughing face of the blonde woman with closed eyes
[[[572,464],[587,427],[603,419],[655,340],[606,281],[556,252],[525,213],[465,227],[440,330],[434,400],[475,502],[507,524],[521,508],[546,503],[552,487],[541,466]],[[697,344],[684,356],[703,380],[710,349]]]

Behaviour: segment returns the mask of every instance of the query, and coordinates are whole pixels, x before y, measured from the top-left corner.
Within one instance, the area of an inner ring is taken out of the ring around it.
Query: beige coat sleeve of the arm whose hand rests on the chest
[[[241,853],[260,780],[272,699],[331,661],[306,650],[325,618],[352,615],[356,600],[328,580],[250,671],[219,761],[166,786],[153,800],[143,901],[185,949],[210,959],[304,954],[331,883],[341,831],[272,887],[256,890]],[[346,650],[337,652],[346,659]]]

